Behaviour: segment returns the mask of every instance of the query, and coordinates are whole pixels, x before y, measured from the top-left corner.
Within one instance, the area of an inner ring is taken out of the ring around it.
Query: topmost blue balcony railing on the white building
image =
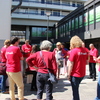
[[[12,1],[19,1],[19,0],[12,0]],[[41,3],[41,4],[50,4],[50,5],[62,5],[62,6],[71,6],[71,7],[80,7],[82,5],[78,4],[78,5],[75,5],[75,4],[66,4],[66,3],[63,3],[61,4],[60,2],[40,2],[40,1],[31,1],[31,0],[23,0],[23,2],[30,2],[30,3]]]

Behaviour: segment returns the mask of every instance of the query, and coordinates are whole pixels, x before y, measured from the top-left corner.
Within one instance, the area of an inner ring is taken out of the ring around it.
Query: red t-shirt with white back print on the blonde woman
[[[86,61],[88,59],[88,53],[86,49],[74,48],[71,50],[69,60],[73,62],[73,69],[71,72],[71,76],[74,77],[84,77],[86,70]]]

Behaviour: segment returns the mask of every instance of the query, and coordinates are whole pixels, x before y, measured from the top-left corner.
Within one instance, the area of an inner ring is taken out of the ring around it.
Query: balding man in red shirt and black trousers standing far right
[[[90,61],[89,61],[89,72],[90,72],[90,77],[93,78],[93,81],[96,80],[96,62],[94,60],[95,57],[98,56],[98,50],[94,47],[93,44],[89,45],[90,47]]]

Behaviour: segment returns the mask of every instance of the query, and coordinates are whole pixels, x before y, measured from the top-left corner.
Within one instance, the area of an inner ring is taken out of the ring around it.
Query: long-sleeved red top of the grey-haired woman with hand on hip
[[[56,59],[55,59],[54,53],[53,52],[42,51],[42,56],[44,58],[46,66],[48,66],[50,71],[56,75],[57,64],[56,64]],[[34,64],[33,64],[33,61],[34,61]],[[36,65],[36,67],[39,68],[38,72],[48,73],[48,70],[46,69],[47,67],[44,65],[43,60],[40,56],[40,52],[36,52],[36,53],[32,54],[30,57],[28,57],[26,59],[26,62],[30,66]]]

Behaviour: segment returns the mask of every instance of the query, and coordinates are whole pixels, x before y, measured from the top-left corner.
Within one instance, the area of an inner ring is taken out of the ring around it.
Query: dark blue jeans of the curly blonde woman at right
[[[80,100],[79,97],[79,84],[81,83],[82,79],[84,77],[74,77],[71,76],[71,85],[72,85],[72,91],[73,91],[73,100]]]

